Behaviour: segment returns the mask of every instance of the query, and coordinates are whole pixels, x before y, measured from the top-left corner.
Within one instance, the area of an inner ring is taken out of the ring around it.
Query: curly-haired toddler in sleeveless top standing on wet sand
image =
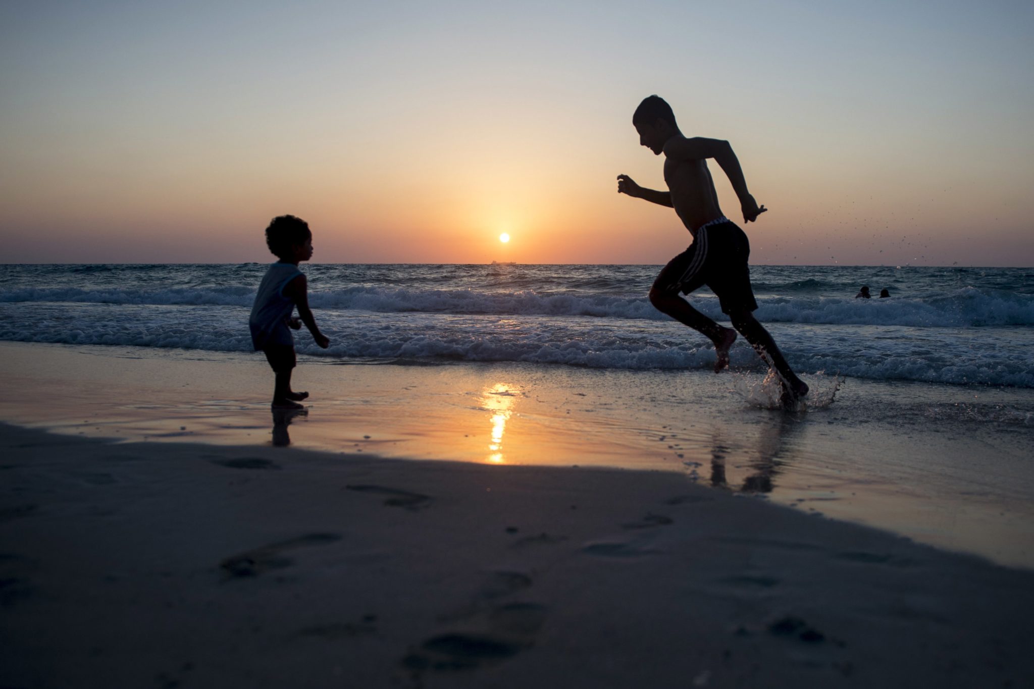
[[[291,372],[295,368],[295,339],[291,330],[298,330],[302,322],[309,328],[316,344],[326,349],[328,340],[312,317],[306,291],[305,274],[298,263],[312,258],[312,232],[308,223],[293,215],[273,218],[266,228],[266,245],[279,258],[269,267],[255,293],[248,325],[255,349],[266,354],[276,374],[273,390],[274,409],[302,409],[299,404],[308,393],[291,389]],[[301,320],[292,317],[295,307]]]

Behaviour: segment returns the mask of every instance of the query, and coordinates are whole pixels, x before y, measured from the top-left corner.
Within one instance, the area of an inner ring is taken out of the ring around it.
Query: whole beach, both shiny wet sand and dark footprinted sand
[[[1034,677],[1023,390],[303,356],[277,421],[254,355],[0,351],[0,686]]]

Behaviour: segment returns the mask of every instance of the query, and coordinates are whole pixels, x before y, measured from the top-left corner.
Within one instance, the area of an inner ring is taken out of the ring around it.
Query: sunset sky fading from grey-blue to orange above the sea
[[[1034,265],[1034,3],[0,3],[5,262],[661,263],[638,102],[728,139],[752,262]],[[739,203],[711,163],[722,208]],[[498,242],[500,232],[513,238]]]

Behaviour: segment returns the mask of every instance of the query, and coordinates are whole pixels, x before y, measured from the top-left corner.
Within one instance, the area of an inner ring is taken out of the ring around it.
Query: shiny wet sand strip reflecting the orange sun
[[[852,379],[831,406],[789,416],[735,389],[756,384],[756,374],[303,356],[296,381],[313,397],[288,426],[270,414],[261,356],[6,342],[0,354],[9,384],[33,390],[0,401],[0,418],[24,426],[219,446],[262,446],[276,432],[342,458],[673,471],[720,492],[1034,568],[1032,431],[999,418],[1030,403],[1024,390]],[[805,379],[817,389],[831,380]]]

